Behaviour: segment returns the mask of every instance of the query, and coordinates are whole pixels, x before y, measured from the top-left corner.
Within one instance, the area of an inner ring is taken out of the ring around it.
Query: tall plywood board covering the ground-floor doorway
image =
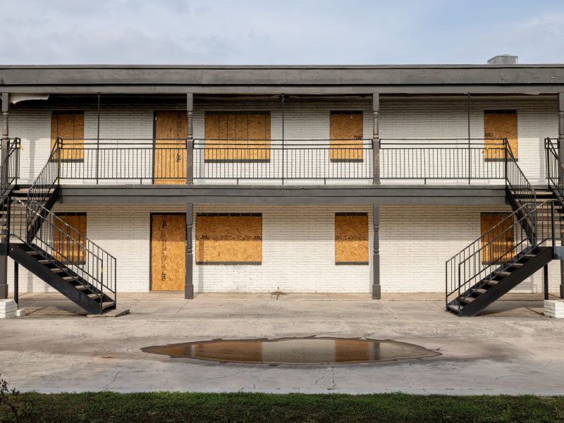
[[[151,221],[151,290],[184,290],[186,215],[153,214]]]

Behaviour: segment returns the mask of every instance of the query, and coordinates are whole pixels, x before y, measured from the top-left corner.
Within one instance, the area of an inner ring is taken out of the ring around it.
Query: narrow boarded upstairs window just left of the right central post
[[[331,161],[362,160],[362,111],[331,111]]]

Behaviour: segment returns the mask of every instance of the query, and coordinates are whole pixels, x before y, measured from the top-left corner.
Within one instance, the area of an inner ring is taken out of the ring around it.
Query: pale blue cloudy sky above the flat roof
[[[564,63],[564,1],[0,0],[1,64]]]

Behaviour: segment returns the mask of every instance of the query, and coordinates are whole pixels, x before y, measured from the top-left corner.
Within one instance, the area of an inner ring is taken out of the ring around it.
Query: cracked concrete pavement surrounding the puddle
[[[564,394],[564,321],[540,295],[508,295],[484,315],[444,311],[440,294],[121,294],[130,314],[91,319],[56,295],[23,295],[0,320],[0,373],[20,390]],[[231,364],[144,353],[214,338],[331,336],[402,341],[441,353],[375,364]]]

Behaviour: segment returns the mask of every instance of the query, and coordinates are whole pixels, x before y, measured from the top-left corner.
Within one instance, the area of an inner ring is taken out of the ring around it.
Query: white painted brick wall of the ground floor
[[[57,211],[87,212],[87,236],[117,257],[118,290],[149,290],[149,215],[184,212],[178,206],[100,205]],[[384,293],[437,292],[445,289],[445,261],[479,238],[480,212],[503,207],[381,207],[380,265]],[[372,207],[243,206],[195,207],[195,212],[259,212],[263,216],[261,266],[195,265],[197,292],[353,292],[370,291]],[[369,213],[369,266],[334,264],[334,213]],[[195,231],[193,233],[195,236]],[[8,278],[12,283],[13,262]],[[549,265],[551,290],[560,283],[560,264]],[[12,287],[10,288],[12,290]],[[515,292],[541,292],[542,272]],[[47,284],[20,268],[20,292],[50,292]]]

